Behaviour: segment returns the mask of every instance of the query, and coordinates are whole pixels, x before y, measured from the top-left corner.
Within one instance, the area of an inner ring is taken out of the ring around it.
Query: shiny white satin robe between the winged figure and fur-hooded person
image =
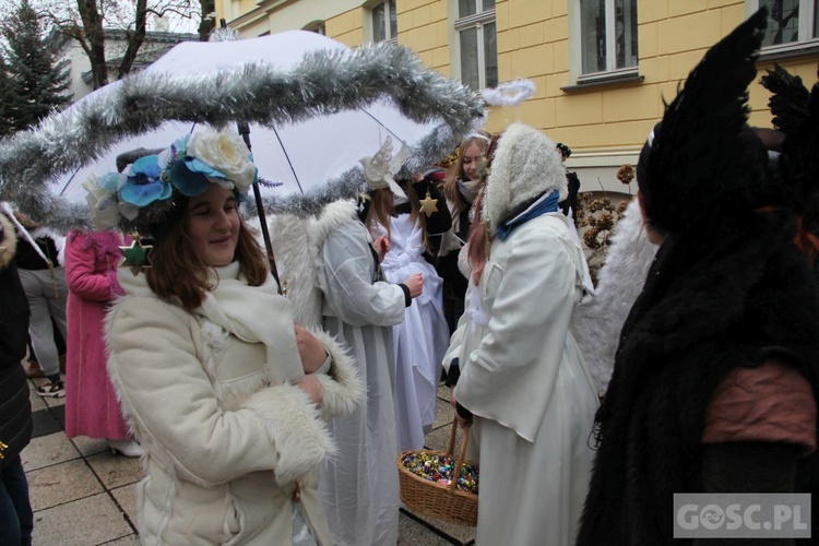
[[[387,235],[378,225],[373,238]],[[424,448],[432,428],[441,358],[449,345],[443,317],[443,282],[424,259],[424,232],[410,214],[390,218],[390,251],[381,262],[384,277],[401,283],[412,274],[424,275],[424,292],[406,308],[404,322],[392,327],[395,354],[395,404],[399,447],[402,451]]]

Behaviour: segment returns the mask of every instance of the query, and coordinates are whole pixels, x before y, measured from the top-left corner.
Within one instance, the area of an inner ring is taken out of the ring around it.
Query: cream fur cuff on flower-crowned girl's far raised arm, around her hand
[[[316,376],[324,389],[322,413],[325,418],[349,415],[364,402],[366,395],[366,388],[355,367],[355,360],[347,353],[347,348],[327,332],[312,333],[332,358],[330,372]]]

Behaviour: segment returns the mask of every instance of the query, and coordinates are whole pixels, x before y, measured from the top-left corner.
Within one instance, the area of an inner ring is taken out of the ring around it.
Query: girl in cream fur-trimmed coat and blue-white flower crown
[[[237,210],[256,176],[237,135],[205,130],[88,185],[92,214],[155,237],[149,258],[139,240],[126,250],[106,331],[145,451],[143,544],[332,544],[317,491],[335,452],[324,418],[352,412],[363,388],[344,349],[295,327],[277,294]]]

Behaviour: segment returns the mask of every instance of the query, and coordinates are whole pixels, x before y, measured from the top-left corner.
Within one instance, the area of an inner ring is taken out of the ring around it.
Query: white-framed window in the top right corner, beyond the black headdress
[[[756,0],[751,8],[768,8],[768,28],[762,47],[787,49],[819,38],[819,0]]]

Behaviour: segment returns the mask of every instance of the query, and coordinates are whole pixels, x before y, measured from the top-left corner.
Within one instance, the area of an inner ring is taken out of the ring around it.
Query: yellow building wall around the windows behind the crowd
[[[277,4],[271,12],[280,17],[283,8],[298,0],[217,0],[240,2],[241,9],[258,10]],[[310,1],[310,0],[301,0]],[[324,0],[328,1],[328,0]],[[335,0],[334,0],[335,1]],[[536,85],[534,95],[517,108],[490,111],[487,129],[499,131],[522,120],[544,130],[556,142],[573,150],[570,168],[601,179],[607,190],[619,191],[615,170],[622,163],[636,163],[651,127],[663,115],[663,100],[670,102],[678,85],[700,61],[705,50],[744,21],[750,12],[745,0],[638,0],[639,75],[642,81],[618,85],[585,85],[567,88],[571,81],[570,1],[498,0],[496,2],[498,71],[501,82],[526,78]],[[344,2],[340,2],[342,4]],[[453,70],[458,38],[453,29],[454,0],[396,0],[400,44],[416,51],[424,63],[444,75]],[[347,8],[325,19],[327,35],[356,47],[368,31],[367,3],[347,1]],[[327,5],[327,4],[324,4]],[[278,8],[277,8],[278,9]],[[219,16],[222,14],[219,13]],[[298,26],[294,26],[298,27]],[[246,32],[240,29],[240,32]],[[248,35],[251,34],[249,27]],[[257,23],[253,23],[257,32]],[[779,61],[808,84],[816,81],[816,56]],[[759,63],[760,73],[772,62]],[[750,88],[753,124],[770,127],[769,94],[760,85]],[[585,189],[589,188],[584,183]]]

